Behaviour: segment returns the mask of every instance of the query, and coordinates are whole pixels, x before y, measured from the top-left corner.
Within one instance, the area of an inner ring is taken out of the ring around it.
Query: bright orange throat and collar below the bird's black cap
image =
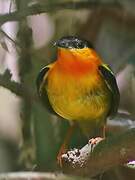
[[[65,74],[83,75],[97,71],[101,60],[96,53],[88,48],[77,50],[60,49],[58,51],[58,66]]]

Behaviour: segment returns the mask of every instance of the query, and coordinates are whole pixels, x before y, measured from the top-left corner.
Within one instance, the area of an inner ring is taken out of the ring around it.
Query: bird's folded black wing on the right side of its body
[[[118,106],[120,102],[120,93],[117,86],[117,82],[114,73],[110,67],[106,64],[99,66],[100,74],[103,76],[105,83],[112,94],[112,105],[109,112],[110,117],[114,117],[118,111]]]

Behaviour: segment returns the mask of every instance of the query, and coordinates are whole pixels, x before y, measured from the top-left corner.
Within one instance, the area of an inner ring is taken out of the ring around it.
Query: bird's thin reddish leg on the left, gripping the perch
[[[61,145],[60,147],[60,150],[59,150],[59,153],[57,155],[57,162],[58,164],[62,167],[62,159],[61,159],[61,156],[62,154],[66,153],[67,149],[68,149],[68,145],[69,145],[69,142],[70,142],[70,139],[71,139],[71,136],[73,134],[73,131],[74,131],[74,128],[75,128],[75,124],[71,125],[66,133],[66,136],[64,138],[64,142],[63,144]]]

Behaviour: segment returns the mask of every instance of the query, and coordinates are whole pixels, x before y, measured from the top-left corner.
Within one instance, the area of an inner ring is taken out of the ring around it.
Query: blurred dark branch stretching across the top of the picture
[[[85,1],[79,1],[79,2],[74,2],[74,1],[69,1],[69,2],[59,2],[57,3],[36,3],[32,4],[29,7],[26,7],[23,9],[23,11],[14,11],[11,13],[3,14],[0,15],[0,24],[2,25],[3,23],[7,21],[18,21],[20,19],[23,19],[27,16],[30,15],[36,15],[40,13],[46,13],[46,12],[54,12],[57,10],[62,10],[62,9],[92,9],[92,8],[97,8],[97,7],[120,7],[120,4],[117,2],[98,2],[98,1],[90,1],[90,0],[85,0]]]

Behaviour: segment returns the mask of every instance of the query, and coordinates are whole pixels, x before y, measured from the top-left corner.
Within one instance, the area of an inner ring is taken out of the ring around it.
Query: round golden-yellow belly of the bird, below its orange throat
[[[100,120],[110,109],[109,90],[97,74],[76,78],[54,72],[47,93],[54,111],[67,120]]]

